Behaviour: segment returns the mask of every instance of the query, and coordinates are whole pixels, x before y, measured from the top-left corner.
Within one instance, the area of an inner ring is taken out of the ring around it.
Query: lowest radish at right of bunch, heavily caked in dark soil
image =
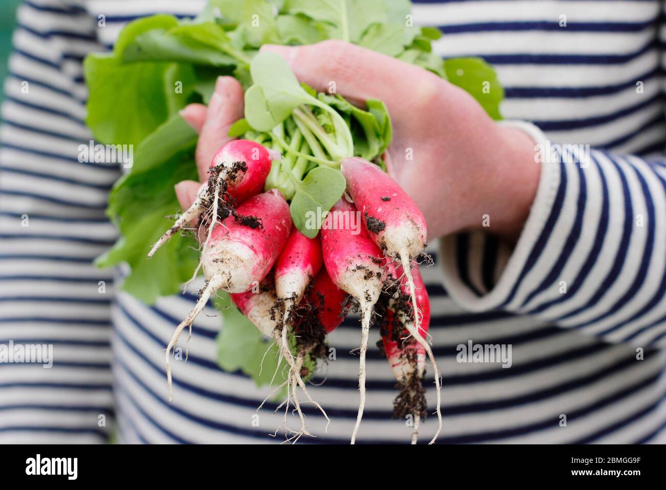
[[[391,263],[388,269],[392,283],[385,291],[390,299],[386,315],[382,319],[380,343],[400,389],[400,394],[394,403],[394,417],[402,419],[408,414],[413,414],[412,444],[416,444],[420,419],[422,415],[426,415],[427,409],[425,390],[421,382],[426,369],[426,349],[414,337],[409,336],[406,328],[407,323],[414,323],[414,310],[410,306],[408,285],[402,267],[396,267]],[[422,313],[418,332],[420,337],[425,339],[430,326],[430,299],[418,267],[414,267],[413,273],[417,289],[416,301]]]

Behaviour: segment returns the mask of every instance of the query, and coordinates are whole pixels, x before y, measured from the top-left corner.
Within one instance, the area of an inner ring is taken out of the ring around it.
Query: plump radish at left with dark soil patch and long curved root
[[[277,189],[256,195],[238,207],[234,215],[214,227],[204,243],[201,262],[207,283],[199,301],[174,331],[166,347],[166,379],[172,399],[170,350],[185,327],[192,335],[192,322],[208,299],[219,289],[244,293],[260,283],[275,263],[291,230],[289,205]]]

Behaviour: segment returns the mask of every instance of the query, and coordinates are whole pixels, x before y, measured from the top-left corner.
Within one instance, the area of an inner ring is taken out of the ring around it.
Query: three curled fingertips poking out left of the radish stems
[[[180,111],[182,118],[199,133],[195,155],[199,182],[182,181],[174,188],[182,209],[194,203],[201,183],[208,180],[213,155],[231,141],[227,133],[233,123],[242,119],[243,111],[243,89],[233,77],[218,77],[208,107],[190,104]]]

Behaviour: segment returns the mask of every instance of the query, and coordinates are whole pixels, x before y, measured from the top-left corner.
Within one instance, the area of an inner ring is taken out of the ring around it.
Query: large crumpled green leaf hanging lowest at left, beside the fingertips
[[[122,238],[95,263],[128,263],[131,273],[122,289],[145,303],[178,292],[198,261],[194,241],[180,235],[147,258],[151,245],[172,223],[165,216],[180,209],[174,184],[196,179],[196,139],[188,123],[178,115],[171,117],[139,145],[130,173],[114,185],[109,197],[107,215],[119,225]]]

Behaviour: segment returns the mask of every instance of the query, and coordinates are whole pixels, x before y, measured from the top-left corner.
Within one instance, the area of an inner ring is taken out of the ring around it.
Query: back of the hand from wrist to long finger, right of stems
[[[296,77],[354,103],[380,99],[393,123],[388,171],[416,201],[434,239],[482,227],[515,239],[539,181],[535,143],[497,125],[464,90],[398,59],[344,43],[265,45]],[[410,159],[413,157],[413,159]]]

